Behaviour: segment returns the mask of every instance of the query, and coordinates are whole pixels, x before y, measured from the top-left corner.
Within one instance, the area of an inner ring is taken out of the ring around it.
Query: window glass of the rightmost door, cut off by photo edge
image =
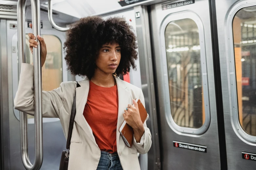
[[[239,122],[256,136],[256,7],[239,10],[233,20]]]

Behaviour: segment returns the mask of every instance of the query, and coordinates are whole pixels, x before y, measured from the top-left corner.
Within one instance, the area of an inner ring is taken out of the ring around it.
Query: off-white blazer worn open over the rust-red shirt
[[[137,152],[145,154],[151,147],[151,133],[144,123],[145,136],[143,144],[136,143],[128,148],[119,133],[124,117],[123,113],[128,104],[132,104],[132,99],[139,98],[145,106],[142,90],[119,78],[115,78],[118,91],[118,120],[116,129],[117,152],[123,170],[140,169]],[[89,92],[89,79],[78,81],[81,87],[77,87],[76,82],[62,82],[60,87],[49,92],[42,93],[43,117],[59,118],[64,135],[67,139],[69,119],[76,91],[76,117],[70,144],[69,170],[96,170],[100,149],[95,142],[91,127],[83,116],[84,106],[87,102]],[[33,65],[22,64],[18,91],[14,99],[14,107],[17,110],[34,114],[34,91],[33,91]],[[65,149],[65,148],[63,148]],[[61,154],[61,153],[60,153]]]

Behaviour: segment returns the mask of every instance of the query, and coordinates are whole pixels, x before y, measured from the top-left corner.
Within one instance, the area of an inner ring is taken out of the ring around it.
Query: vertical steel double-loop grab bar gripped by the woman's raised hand
[[[18,0],[17,21],[18,21],[18,55],[19,74],[21,64],[26,62],[25,52],[25,5],[26,0]],[[31,0],[33,34],[40,35],[40,3],[39,0]],[[35,106],[35,161],[32,165],[28,158],[27,140],[27,114],[20,112],[20,135],[21,135],[21,159],[26,170],[39,170],[43,163],[43,131],[42,131],[42,70],[40,42],[38,48],[33,48],[34,63],[34,106]]]

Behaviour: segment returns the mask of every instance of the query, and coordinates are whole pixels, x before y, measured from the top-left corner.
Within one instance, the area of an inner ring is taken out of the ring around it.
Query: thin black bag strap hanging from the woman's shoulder
[[[77,87],[80,87],[80,85],[77,82]],[[75,92],[75,96],[74,96],[74,101],[73,101],[73,106],[72,106],[72,110],[71,110],[71,115],[70,115],[70,120],[69,120],[69,128],[68,128],[68,138],[67,138],[67,144],[66,144],[66,148],[69,149],[70,148],[70,141],[71,141],[71,136],[72,136],[72,131],[73,131],[73,126],[74,126],[74,120],[75,120],[75,116],[76,116],[76,93]]]

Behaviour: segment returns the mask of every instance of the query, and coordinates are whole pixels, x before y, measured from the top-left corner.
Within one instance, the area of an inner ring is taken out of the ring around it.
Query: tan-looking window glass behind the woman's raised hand
[[[41,36],[47,48],[46,61],[42,67],[42,91],[51,91],[60,87],[62,82],[62,45],[60,39],[54,35]],[[28,35],[26,35],[26,63],[33,63]],[[28,118],[33,118],[33,116],[28,115]]]

